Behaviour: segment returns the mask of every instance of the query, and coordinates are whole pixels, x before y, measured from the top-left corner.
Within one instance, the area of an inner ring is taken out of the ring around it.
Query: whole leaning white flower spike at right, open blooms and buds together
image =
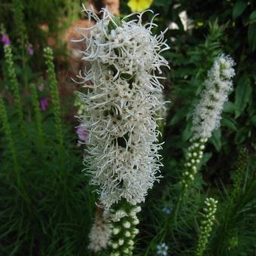
[[[206,88],[202,92],[199,104],[193,115],[192,131],[186,161],[184,163],[183,179],[181,184],[187,187],[198,171],[198,164],[203,157],[203,150],[213,130],[220,125],[221,111],[227,96],[233,90],[231,78],[235,75],[235,63],[230,56],[218,56],[205,81]]]

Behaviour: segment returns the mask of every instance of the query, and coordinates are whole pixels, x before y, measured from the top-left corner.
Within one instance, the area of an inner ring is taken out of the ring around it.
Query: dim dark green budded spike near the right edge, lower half
[[[238,195],[241,189],[242,180],[245,176],[245,171],[248,162],[248,149],[241,148],[239,155],[236,160],[236,173],[234,176],[233,191],[231,194],[231,199],[234,200]]]

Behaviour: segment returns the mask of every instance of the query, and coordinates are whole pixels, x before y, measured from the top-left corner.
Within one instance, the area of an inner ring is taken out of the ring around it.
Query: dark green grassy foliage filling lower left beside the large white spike
[[[0,99],[0,254],[84,255],[95,198],[81,175],[82,150],[76,146],[75,125],[62,128],[66,136],[60,164],[52,110],[41,114],[35,85],[29,89],[32,105],[24,120],[29,143],[20,136],[16,111],[8,104],[7,113]],[[39,149],[41,133],[44,143]]]

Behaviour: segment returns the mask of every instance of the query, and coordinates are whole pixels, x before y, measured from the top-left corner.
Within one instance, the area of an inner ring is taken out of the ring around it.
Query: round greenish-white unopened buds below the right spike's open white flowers
[[[188,187],[190,181],[194,181],[194,176],[198,171],[198,165],[203,157],[203,150],[207,139],[190,139],[190,147],[188,148],[187,157],[184,163],[184,172],[181,184]]]

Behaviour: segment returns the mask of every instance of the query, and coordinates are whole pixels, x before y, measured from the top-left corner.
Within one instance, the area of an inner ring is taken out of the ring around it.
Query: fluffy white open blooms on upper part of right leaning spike
[[[220,125],[224,102],[233,90],[231,78],[235,75],[234,65],[230,56],[222,54],[210,69],[205,81],[206,88],[194,111],[192,130],[196,138],[209,139],[212,131]]]

